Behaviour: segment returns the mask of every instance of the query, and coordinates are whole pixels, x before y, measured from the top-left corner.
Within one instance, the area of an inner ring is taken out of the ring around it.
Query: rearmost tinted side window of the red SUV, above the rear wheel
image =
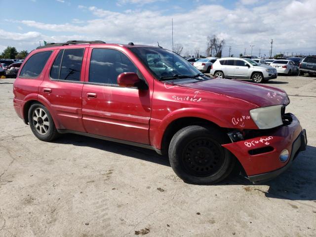
[[[24,64],[20,77],[21,78],[37,78],[43,70],[52,51],[39,52],[32,55]]]

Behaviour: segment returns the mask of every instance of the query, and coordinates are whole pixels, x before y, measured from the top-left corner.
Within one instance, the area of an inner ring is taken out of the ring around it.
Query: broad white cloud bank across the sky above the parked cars
[[[247,53],[250,53],[250,44],[256,45],[253,48],[254,53],[257,54],[260,48],[261,52],[268,54],[271,39],[274,39],[274,48],[278,52],[316,51],[316,0],[280,0],[256,7],[236,5],[234,9],[215,4],[198,5],[191,11],[170,15],[164,15],[163,11],[151,10],[129,9],[115,12],[83,5],[78,8],[89,11],[93,19],[73,19],[72,23],[64,24],[47,24],[32,20],[19,23],[38,31],[51,32],[50,36],[40,35],[40,40],[45,37],[46,41],[50,42],[103,40],[157,45],[159,41],[161,46],[171,48],[173,18],[174,42],[182,43],[183,51],[193,52],[194,48],[199,48],[204,52],[207,46],[206,37],[213,34],[224,38],[226,45],[232,46],[235,55],[243,53],[245,47]],[[36,37],[35,33],[40,34],[33,31],[20,35],[8,32],[3,35],[0,32],[0,39],[5,37],[6,40],[15,40],[16,37],[21,37],[29,39],[28,42],[33,40],[38,43],[40,37]],[[58,36],[60,34],[63,36]],[[2,42],[1,44],[3,45]],[[26,45],[31,46],[30,43]],[[225,53],[228,55],[228,46],[224,48]]]

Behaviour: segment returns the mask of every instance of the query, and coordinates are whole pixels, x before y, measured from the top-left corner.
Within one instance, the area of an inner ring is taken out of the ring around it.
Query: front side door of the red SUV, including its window
[[[150,91],[120,87],[117,77],[135,72],[133,62],[121,51],[90,48],[82,90],[82,121],[88,133],[149,144]]]

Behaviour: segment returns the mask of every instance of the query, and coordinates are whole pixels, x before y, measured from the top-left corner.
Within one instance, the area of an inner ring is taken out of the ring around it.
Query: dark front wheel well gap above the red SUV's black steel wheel
[[[222,128],[218,126],[216,123],[211,122],[209,120],[203,119],[203,118],[196,118],[196,117],[185,117],[185,118],[178,118],[174,121],[172,121],[167,128],[165,129],[161,141],[161,154],[166,155],[168,153],[169,144],[177,131],[179,131],[181,128],[190,126],[190,125],[207,125],[211,127],[216,127],[227,135],[227,131],[225,131],[225,128]],[[227,139],[229,140],[229,137],[227,135]]]

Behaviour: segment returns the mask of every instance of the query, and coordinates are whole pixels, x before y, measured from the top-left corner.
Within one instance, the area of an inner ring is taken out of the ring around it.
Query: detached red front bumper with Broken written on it
[[[286,115],[291,118],[286,125],[269,130],[256,130],[261,135],[222,145],[236,156],[250,181],[262,182],[270,179],[271,177],[266,178],[270,172],[274,172],[270,176],[277,176],[286,169],[285,166],[290,165],[297,153],[302,151],[303,148],[297,149],[302,144],[298,141],[302,140],[300,137],[306,137],[306,132],[294,115]],[[305,141],[304,147],[307,143]],[[289,158],[281,162],[279,156],[284,149],[289,151]]]

